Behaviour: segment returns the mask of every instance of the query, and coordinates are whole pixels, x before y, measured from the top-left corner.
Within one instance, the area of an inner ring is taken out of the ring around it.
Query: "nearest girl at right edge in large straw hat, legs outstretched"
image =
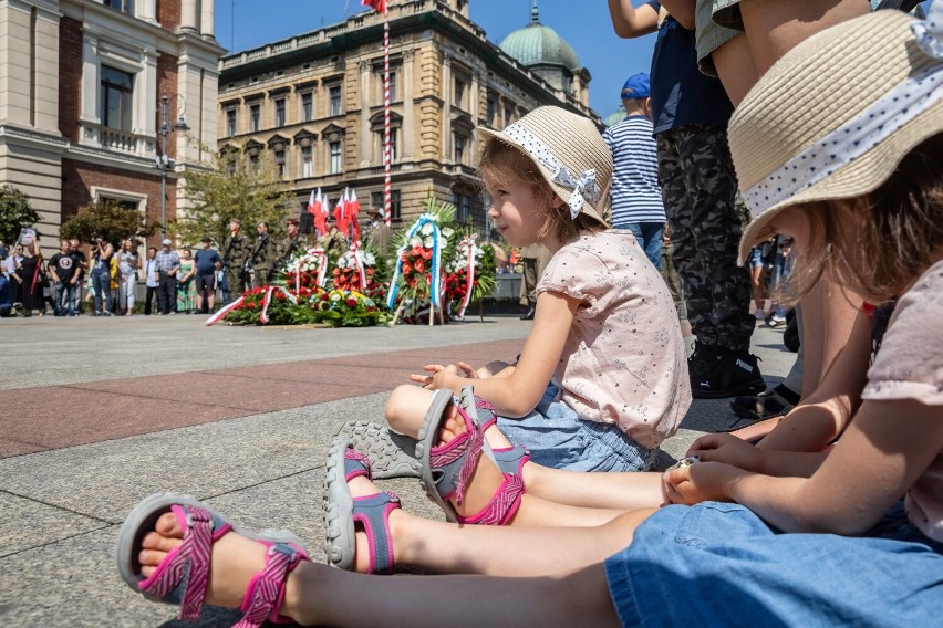
[[[937,3],[925,23],[883,12],[829,29],[788,53],[732,121],[734,159],[756,216],[743,251],[786,233],[799,253],[798,295],[829,274],[871,302],[897,300],[859,411],[830,451],[790,457],[805,471],[722,463],[725,452],[748,446],[712,435],[693,448],[702,462],[665,474],[673,505],[619,514],[599,527],[457,526],[393,510],[390,556],[484,574],[460,577],[330,569],[297,550],[270,551],[228,534],[221,521],[191,524],[208,519],[191,499],[151,498],[120,535],[128,584],[156,595],[173,588],[184,567],[205,574],[211,561],[208,579],[188,580],[191,607],[205,595],[262,616],[336,626],[939,621],[941,27]],[[353,470],[352,491],[376,493],[367,474]],[[184,504],[176,515],[167,512],[174,503]],[[370,552],[365,538],[357,550]],[[247,594],[263,564],[269,568]],[[176,576],[170,565],[179,566]],[[139,577],[148,579],[139,585]]]

